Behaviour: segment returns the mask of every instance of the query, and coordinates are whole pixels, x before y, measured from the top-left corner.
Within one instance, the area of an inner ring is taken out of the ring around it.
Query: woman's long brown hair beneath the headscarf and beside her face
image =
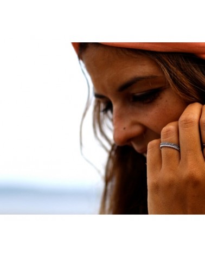
[[[97,43],[94,44],[97,46]],[[80,43],[79,57],[88,45],[89,43]],[[172,90],[187,104],[205,103],[205,60],[186,53],[119,49],[133,56],[136,53],[144,54],[156,61]],[[96,101],[93,112],[95,137],[102,145],[101,138],[111,145],[105,168],[100,213],[148,214],[146,159],[130,146],[112,144],[105,132],[109,121],[111,117],[101,113],[101,106]]]

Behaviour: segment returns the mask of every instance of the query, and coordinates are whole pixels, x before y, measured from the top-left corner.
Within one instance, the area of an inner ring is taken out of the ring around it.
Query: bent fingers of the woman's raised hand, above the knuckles
[[[175,169],[183,163],[204,161],[205,148],[205,106],[193,103],[185,108],[180,119],[166,125],[161,131],[161,142],[180,146],[180,151],[163,147],[159,150],[160,140],[153,140],[148,146],[148,168],[150,170]],[[164,167],[164,168],[163,168]]]

